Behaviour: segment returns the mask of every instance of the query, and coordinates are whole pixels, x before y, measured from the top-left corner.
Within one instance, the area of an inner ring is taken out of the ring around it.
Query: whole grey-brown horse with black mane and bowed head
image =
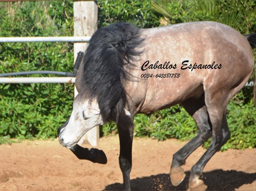
[[[106,163],[103,151],[85,150],[80,138],[109,120],[117,124],[119,164],[124,189],[130,190],[133,119],[180,103],[193,117],[198,133],[173,155],[170,179],[185,177],[180,167],[206,140],[211,145],[191,168],[190,190],[205,190],[203,169],[230,138],[226,110],[249,80],[256,33],[243,36],[216,22],[191,22],[152,29],[116,23],[92,36],[76,78],[79,94],[73,111],[58,129],[59,142],[80,158]],[[238,127],[239,128],[239,127]]]

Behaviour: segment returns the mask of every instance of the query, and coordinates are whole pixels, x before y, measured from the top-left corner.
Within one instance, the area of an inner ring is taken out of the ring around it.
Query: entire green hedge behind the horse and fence
[[[255,32],[256,28],[255,1],[100,0],[98,7],[98,28],[117,21],[151,28],[200,20],[222,22],[242,34]],[[2,37],[73,36],[73,1],[0,2],[0,20]],[[0,73],[72,71],[73,52],[72,43],[1,43]],[[252,96],[252,88],[244,88],[228,105],[232,135],[222,150],[255,147],[256,109]],[[5,137],[55,138],[57,128],[72,111],[73,97],[72,84],[0,84],[0,142]],[[197,133],[194,120],[180,105],[138,114],[134,123],[135,136],[158,140],[188,140]],[[103,136],[116,132],[114,123],[101,127]]]

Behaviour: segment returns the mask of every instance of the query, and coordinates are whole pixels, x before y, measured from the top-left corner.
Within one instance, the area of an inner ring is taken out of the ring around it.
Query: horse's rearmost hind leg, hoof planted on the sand
[[[219,95],[227,94],[223,93]],[[212,124],[212,141],[207,151],[191,168],[188,184],[190,190],[205,190],[207,188],[207,186],[204,185],[204,181],[200,180],[203,176],[203,169],[212,156],[219,151],[221,146],[230,138],[230,131],[226,119],[227,102],[222,100],[222,97],[218,96],[206,97],[207,111]]]

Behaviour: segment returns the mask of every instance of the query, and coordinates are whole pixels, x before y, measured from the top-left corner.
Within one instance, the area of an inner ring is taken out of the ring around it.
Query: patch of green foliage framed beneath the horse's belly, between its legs
[[[161,141],[167,138],[188,140],[197,132],[194,120],[179,105],[150,115],[138,114],[134,122],[135,136],[149,136]]]

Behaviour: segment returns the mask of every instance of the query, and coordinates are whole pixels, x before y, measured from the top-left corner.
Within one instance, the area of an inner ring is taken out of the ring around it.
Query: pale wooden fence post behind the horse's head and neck
[[[74,1],[74,36],[92,36],[98,27],[97,1]],[[85,51],[87,43],[74,43],[74,63],[79,51]],[[77,95],[75,87],[75,96]],[[96,146],[99,140],[99,126],[89,130],[78,142],[89,142]]]

